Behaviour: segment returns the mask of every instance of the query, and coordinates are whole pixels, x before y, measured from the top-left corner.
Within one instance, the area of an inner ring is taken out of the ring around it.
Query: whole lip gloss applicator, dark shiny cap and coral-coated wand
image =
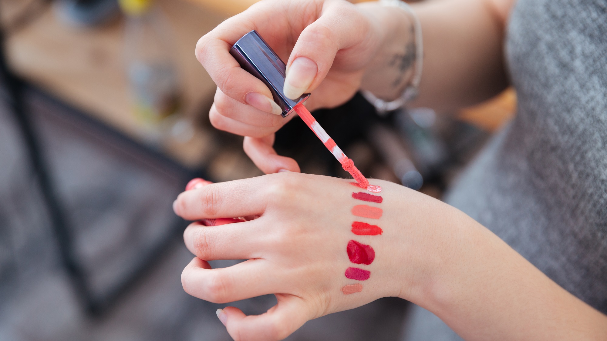
[[[325,132],[325,129],[322,129],[314,116],[304,107],[304,102],[310,97],[310,93],[304,93],[297,100],[291,100],[282,92],[287,66],[255,30],[238,39],[229,52],[239,62],[240,67],[268,86],[274,97],[274,102],[282,109],[281,115],[283,117],[293,111],[297,112],[297,115],[304,120],[305,124],[312,129],[320,141],[325,144],[325,147],[341,163],[344,170],[352,175],[359,186],[367,188],[369,181],[354,166],[352,159],[344,154],[335,141]]]

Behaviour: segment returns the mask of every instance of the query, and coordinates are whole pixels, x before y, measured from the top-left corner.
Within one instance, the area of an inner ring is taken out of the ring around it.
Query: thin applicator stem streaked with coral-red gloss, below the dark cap
[[[305,124],[307,124],[308,127],[312,129],[312,131],[316,134],[320,141],[325,144],[325,147],[327,147],[327,149],[331,152],[331,154],[333,154],[337,161],[341,163],[342,168],[344,168],[346,172],[352,175],[352,177],[354,178],[354,180],[356,180],[359,186],[367,188],[367,186],[369,186],[369,181],[367,180],[367,178],[365,178],[365,176],[362,175],[361,171],[358,170],[356,166],[354,166],[354,161],[352,161],[351,158],[345,156],[341,148],[339,148],[335,141],[333,141],[333,139],[328,135],[328,133],[325,132],[325,129],[322,129],[320,124],[318,124],[318,122],[316,121],[316,118],[314,118],[314,116],[312,116],[308,109],[304,107],[304,104],[297,104],[293,107],[293,110],[295,110],[295,112],[297,112],[297,115],[299,115],[299,117],[304,120]]]

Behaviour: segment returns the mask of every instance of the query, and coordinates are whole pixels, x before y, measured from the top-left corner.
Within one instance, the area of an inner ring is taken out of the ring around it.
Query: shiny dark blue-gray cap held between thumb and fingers
[[[310,97],[310,93],[304,93],[297,100],[285,96],[282,89],[285,86],[287,66],[255,30],[238,39],[229,53],[236,58],[240,67],[268,86],[274,102],[282,109],[283,117],[293,112],[294,106],[304,103]]]

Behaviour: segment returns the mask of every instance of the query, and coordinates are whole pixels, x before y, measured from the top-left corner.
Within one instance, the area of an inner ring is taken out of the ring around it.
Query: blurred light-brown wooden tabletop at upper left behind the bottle
[[[4,7],[18,5],[9,0]],[[205,114],[215,84],[194,57],[198,39],[224,17],[188,1],[158,0],[174,31],[175,61],[186,116]],[[58,98],[90,113],[121,132],[144,140],[132,111],[123,58],[122,19],[104,27],[73,27],[47,8],[35,22],[8,39],[8,58],[19,75]],[[170,157],[197,166],[208,154],[208,134],[197,131],[188,143],[169,141],[161,149]]]

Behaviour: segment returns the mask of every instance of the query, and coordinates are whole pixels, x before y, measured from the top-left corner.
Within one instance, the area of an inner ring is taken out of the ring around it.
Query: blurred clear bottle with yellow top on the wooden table
[[[126,14],[124,53],[134,112],[151,142],[172,134],[180,95],[171,27],[152,0],[120,0]]]

